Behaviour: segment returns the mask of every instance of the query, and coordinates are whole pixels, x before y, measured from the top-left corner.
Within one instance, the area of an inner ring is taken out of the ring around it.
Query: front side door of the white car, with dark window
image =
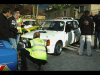
[[[73,40],[74,31],[72,30],[72,21],[67,21],[65,27],[65,46],[72,44]]]

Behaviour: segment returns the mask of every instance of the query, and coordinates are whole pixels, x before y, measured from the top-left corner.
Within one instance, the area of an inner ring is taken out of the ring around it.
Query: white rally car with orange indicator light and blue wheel
[[[77,20],[46,20],[38,30],[23,34],[22,42],[27,46],[27,41],[33,39],[35,32],[39,32],[40,38],[47,42],[47,53],[60,55],[63,47],[79,41],[81,32],[78,24]]]

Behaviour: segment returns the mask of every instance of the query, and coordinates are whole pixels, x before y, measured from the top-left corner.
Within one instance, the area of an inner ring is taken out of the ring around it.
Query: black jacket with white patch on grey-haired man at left
[[[14,16],[10,17],[9,19],[9,25],[10,25],[10,29],[9,29],[9,38],[17,38],[17,28],[16,28],[16,20],[14,18]]]

